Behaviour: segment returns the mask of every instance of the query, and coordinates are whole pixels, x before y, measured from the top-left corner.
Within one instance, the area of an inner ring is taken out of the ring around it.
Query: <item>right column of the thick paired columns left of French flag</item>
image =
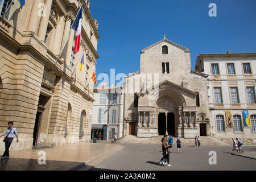
[[[42,16],[39,30],[38,30],[38,37],[43,42],[44,42],[44,39],[46,38],[46,31],[48,27],[49,15],[51,13],[52,0],[46,0],[45,5],[46,5],[46,16]]]

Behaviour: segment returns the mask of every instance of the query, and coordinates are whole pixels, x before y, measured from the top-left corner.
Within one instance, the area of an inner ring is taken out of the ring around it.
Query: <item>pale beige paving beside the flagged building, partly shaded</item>
[[[108,142],[65,144],[39,150],[10,151],[10,159],[0,161],[0,171],[68,171],[79,167],[89,169],[122,148],[121,145]],[[46,154],[45,165],[38,163],[39,152]]]

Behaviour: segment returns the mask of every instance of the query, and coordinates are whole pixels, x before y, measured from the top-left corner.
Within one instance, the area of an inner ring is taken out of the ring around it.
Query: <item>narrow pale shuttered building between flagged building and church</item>
[[[92,138],[101,133],[101,139],[113,140],[123,137],[123,99],[122,86],[94,86]]]

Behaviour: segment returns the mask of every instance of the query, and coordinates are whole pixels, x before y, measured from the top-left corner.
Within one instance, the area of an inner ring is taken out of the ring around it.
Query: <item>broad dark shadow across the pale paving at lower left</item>
[[[46,160],[46,164],[39,164],[37,159],[10,158],[0,161],[0,171],[72,171],[85,166],[80,162],[65,162]]]

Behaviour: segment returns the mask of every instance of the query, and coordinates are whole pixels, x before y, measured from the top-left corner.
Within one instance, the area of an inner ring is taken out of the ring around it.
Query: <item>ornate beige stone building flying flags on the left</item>
[[[75,54],[75,31],[69,34],[69,30],[82,3],[81,46]],[[13,143],[12,150],[90,139],[94,98],[89,79],[99,57],[100,36],[89,4],[89,0],[30,0],[20,9],[14,1],[7,13],[1,6],[0,131],[14,122],[20,142]],[[80,72],[77,63],[83,52]]]

